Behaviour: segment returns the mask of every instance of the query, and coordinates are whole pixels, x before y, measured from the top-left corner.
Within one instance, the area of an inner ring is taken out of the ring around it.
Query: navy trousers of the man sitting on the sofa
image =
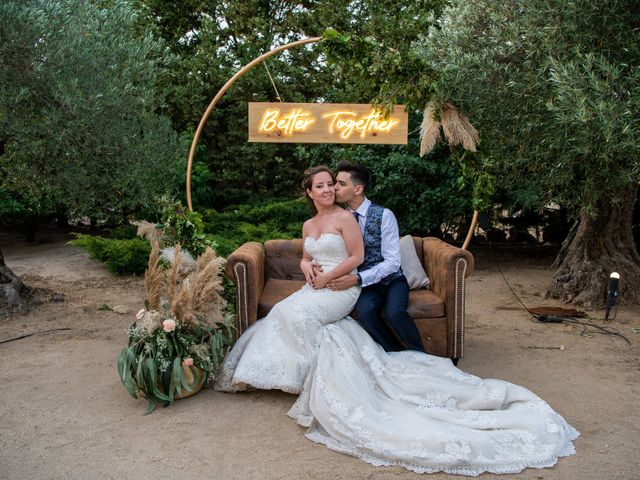
[[[369,285],[362,289],[356,302],[356,320],[387,352],[424,352],[418,328],[407,313],[408,303],[409,285],[404,275],[386,285]]]

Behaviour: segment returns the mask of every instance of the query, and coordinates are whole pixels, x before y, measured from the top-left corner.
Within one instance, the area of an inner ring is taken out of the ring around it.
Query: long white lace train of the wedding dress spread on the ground
[[[448,359],[385,353],[349,320],[320,332],[289,415],[306,436],[372,465],[477,476],[548,467],[578,433],[529,390],[461,372]]]

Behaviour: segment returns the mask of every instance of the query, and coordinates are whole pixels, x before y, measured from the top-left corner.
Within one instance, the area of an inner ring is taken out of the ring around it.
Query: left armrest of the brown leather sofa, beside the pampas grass
[[[236,284],[237,335],[257,320],[258,300],[264,290],[264,249],[258,242],[247,242],[227,258],[227,277]]]

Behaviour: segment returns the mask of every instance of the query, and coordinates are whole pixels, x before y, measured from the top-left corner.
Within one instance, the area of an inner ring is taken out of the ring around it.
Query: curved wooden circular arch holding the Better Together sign
[[[187,207],[189,208],[189,211],[193,212],[193,204],[191,203],[191,169],[193,167],[193,158],[195,157],[195,154],[196,154],[196,146],[200,141],[200,135],[202,134],[204,125],[207,123],[207,120],[209,119],[209,115],[211,115],[213,108],[220,101],[222,96],[226,93],[227,90],[229,90],[229,88],[231,88],[231,85],[233,85],[236,82],[236,80],[238,80],[241,76],[243,76],[245,73],[247,73],[256,65],[264,62],[267,58],[272,57],[280,52],[284,52],[285,50],[289,50],[290,48],[299,47],[301,45],[307,45],[309,43],[316,43],[316,42],[319,42],[320,40],[322,40],[322,37],[310,37],[310,38],[298,40],[296,42],[287,43],[286,45],[281,45],[277,48],[274,48],[273,50],[270,50],[267,53],[264,53],[260,55],[258,58],[247,63],[244,67],[238,70],[236,74],[233,77],[231,77],[227,81],[227,83],[225,83],[222,86],[220,90],[218,90],[218,93],[216,94],[215,97],[213,97],[213,100],[211,100],[211,103],[205,110],[204,114],[202,115],[202,118],[200,118],[200,123],[198,123],[198,128],[196,129],[196,133],[193,136],[193,141],[191,142],[191,148],[189,149],[189,160],[187,161]],[[471,220],[471,225],[469,226],[469,231],[467,232],[467,237],[465,238],[464,244],[462,245],[463,250],[466,250],[467,247],[469,246],[469,242],[471,242],[471,237],[473,236],[473,231],[475,230],[477,221],[478,221],[478,211],[475,210],[473,212],[473,219]]]

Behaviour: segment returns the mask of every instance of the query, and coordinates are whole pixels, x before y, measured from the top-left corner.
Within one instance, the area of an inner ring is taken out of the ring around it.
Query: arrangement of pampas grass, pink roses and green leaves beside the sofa
[[[213,380],[235,338],[233,316],[225,313],[221,296],[224,260],[211,248],[193,260],[177,245],[167,267],[158,240],[151,242],[145,308],[118,356],[120,380],[132,397],[140,392],[148,399],[146,414]]]

